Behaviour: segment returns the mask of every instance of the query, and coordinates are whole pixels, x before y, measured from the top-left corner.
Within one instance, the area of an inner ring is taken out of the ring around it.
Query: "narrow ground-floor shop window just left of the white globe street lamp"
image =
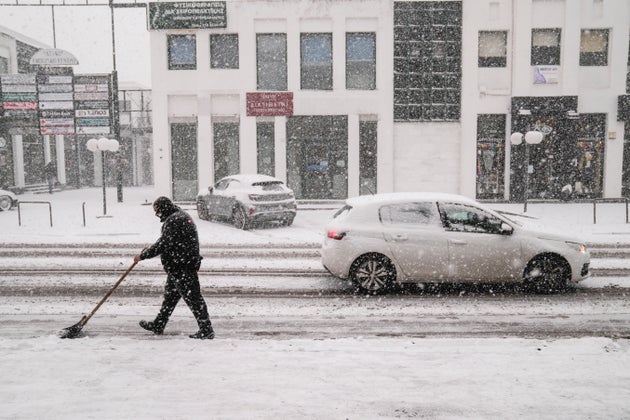
[[[503,198],[505,115],[477,116],[477,198]]]

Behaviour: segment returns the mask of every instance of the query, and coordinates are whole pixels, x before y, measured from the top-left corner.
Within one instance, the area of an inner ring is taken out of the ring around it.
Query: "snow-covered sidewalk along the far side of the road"
[[[107,189],[107,216],[103,216],[101,188],[67,190],[54,194],[22,194],[20,201],[45,203],[21,205],[20,223],[17,209],[0,212],[2,243],[38,244],[127,244],[145,246],[160,234],[161,224],[150,204],[156,198],[152,187],[124,189],[124,202],[116,200],[116,189]],[[49,206],[52,210],[50,226]],[[199,220],[194,205],[183,206],[197,222],[199,238],[206,246],[318,246],[326,222],[340,206],[303,203],[293,226],[234,229],[229,223]],[[522,203],[489,203],[496,210],[519,214]],[[85,225],[84,213],[85,210]],[[526,217],[510,216],[527,225],[543,225],[545,229],[574,235],[589,244],[630,244],[630,224],[626,224],[625,203],[599,203],[597,223],[593,223],[592,203],[529,203]]]

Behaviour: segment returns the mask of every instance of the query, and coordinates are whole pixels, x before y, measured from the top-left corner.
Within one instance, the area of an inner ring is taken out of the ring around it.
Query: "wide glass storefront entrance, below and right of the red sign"
[[[299,199],[344,199],[348,196],[346,116],[288,119],[287,181]]]

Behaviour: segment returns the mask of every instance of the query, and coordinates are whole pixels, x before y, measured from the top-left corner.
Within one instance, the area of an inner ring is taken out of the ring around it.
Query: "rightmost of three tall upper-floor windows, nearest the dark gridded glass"
[[[376,89],[376,34],[346,34],[346,89]]]

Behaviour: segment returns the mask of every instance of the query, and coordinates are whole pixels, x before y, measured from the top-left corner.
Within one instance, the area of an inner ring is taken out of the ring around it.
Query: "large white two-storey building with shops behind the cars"
[[[161,2],[148,18],[154,180],[176,200],[237,172],[302,199],[522,199],[527,169],[530,197],[630,191],[627,0]],[[545,137],[526,165],[510,137],[529,130]]]

